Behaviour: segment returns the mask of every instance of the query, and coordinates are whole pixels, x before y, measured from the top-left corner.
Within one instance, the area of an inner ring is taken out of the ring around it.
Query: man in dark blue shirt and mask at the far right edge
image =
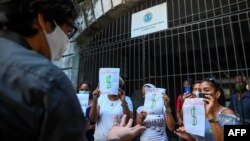
[[[246,88],[246,77],[237,75],[234,85],[236,93],[232,95],[228,107],[240,117],[241,124],[250,125],[250,92]]]

